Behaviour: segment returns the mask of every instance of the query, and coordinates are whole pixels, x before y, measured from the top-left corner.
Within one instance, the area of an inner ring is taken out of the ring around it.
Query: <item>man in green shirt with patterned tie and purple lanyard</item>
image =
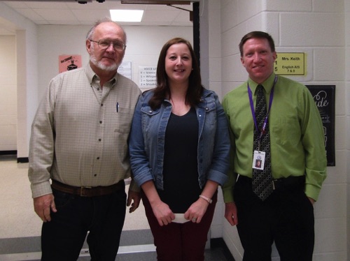
[[[307,87],[274,74],[276,51],[268,33],[246,34],[239,50],[249,77],[223,98],[232,144],[230,179],[223,186],[225,218],[237,225],[244,260],[271,260],[273,242],[281,260],[312,260],[313,204],[327,166],[320,114]],[[267,103],[266,129],[260,129],[255,118],[255,90],[260,84]],[[269,152],[253,149],[254,140],[267,132]],[[264,162],[265,152],[270,163]],[[264,155],[261,167],[255,165],[260,161],[257,155]],[[271,194],[261,199],[252,180],[253,173],[264,170],[264,163],[272,174],[267,182]]]

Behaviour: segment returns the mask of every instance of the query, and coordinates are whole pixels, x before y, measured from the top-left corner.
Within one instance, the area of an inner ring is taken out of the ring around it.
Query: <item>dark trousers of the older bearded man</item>
[[[51,221],[43,223],[41,260],[77,260],[88,231],[91,260],[116,260],[125,220],[125,189],[98,197],[52,192],[57,212],[51,212]]]

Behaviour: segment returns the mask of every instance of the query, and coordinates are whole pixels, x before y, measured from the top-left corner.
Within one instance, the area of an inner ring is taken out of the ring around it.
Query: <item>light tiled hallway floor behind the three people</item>
[[[17,163],[16,156],[0,155],[0,260],[20,261],[40,259],[41,220],[36,216],[31,199],[28,163]],[[153,237],[140,204],[133,214],[127,214],[118,261],[156,260]],[[90,260],[87,246],[79,261]],[[232,261],[221,239],[212,239],[205,251],[205,261]]]

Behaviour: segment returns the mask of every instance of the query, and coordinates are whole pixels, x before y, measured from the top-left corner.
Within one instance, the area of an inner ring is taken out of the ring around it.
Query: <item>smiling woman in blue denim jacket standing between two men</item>
[[[218,96],[202,87],[187,40],[162,47],[157,84],[140,96],[134,112],[133,178],[158,260],[202,261],[218,186],[227,179],[228,121]]]

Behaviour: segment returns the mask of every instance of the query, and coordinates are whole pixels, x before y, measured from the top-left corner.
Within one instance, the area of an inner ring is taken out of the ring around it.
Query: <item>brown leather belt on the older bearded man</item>
[[[117,184],[113,184],[111,186],[76,187],[76,186],[69,186],[52,179],[51,187],[57,191],[61,191],[61,192],[69,193],[73,195],[79,195],[81,197],[97,197],[101,195],[109,195],[117,191],[120,191],[121,189],[124,190],[125,183],[124,183],[124,180],[121,180]]]

